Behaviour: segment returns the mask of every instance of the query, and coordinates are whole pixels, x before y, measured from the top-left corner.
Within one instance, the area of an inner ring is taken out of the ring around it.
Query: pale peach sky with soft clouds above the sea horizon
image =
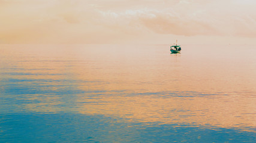
[[[0,0],[0,43],[256,44],[254,0]]]

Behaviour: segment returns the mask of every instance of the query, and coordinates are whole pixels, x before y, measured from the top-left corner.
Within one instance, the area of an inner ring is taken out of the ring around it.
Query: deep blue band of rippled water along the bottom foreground
[[[98,115],[8,114],[1,119],[1,142],[255,142],[255,133],[236,129],[144,125]]]

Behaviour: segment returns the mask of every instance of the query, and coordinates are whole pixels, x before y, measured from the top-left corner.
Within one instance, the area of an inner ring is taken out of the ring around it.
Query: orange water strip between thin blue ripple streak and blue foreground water
[[[177,94],[179,95],[179,93]],[[80,108],[83,114],[104,114],[159,124],[191,124],[218,128],[255,127],[255,100],[237,94],[162,98],[158,95],[95,97]]]

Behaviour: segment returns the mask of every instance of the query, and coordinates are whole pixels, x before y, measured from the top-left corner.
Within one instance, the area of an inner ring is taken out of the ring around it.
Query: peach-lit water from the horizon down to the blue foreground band
[[[198,54],[185,46],[182,54],[171,55],[168,45],[47,47],[9,45],[2,52],[1,65],[10,70],[5,72],[17,69],[3,78],[26,79],[26,92],[35,91],[26,97],[31,101],[24,104],[26,110],[149,124],[256,127],[253,51],[243,55],[234,47],[222,49],[233,56],[202,48]]]

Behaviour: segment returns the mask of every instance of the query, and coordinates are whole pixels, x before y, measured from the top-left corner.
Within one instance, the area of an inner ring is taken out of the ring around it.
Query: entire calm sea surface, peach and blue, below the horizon
[[[0,45],[0,142],[255,142],[241,47]]]

